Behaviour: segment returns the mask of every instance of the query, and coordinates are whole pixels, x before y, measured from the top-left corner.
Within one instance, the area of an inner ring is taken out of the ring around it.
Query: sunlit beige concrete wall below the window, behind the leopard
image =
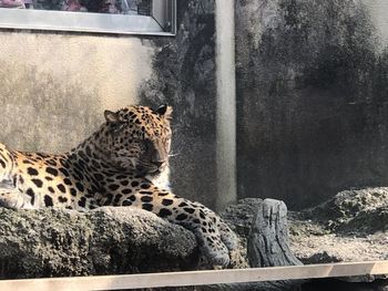
[[[62,152],[137,101],[154,46],[139,39],[0,32],[0,141]],[[135,52],[135,53],[134,53]]]

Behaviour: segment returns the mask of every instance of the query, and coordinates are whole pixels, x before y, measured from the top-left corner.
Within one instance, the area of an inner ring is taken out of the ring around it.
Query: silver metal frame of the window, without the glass
[[[161,20],[152,15],[10,8],[0,8],[0,29],[174,37],[176,0],[159,1],[166,2],[164,13],[170,31],[163,31]]]

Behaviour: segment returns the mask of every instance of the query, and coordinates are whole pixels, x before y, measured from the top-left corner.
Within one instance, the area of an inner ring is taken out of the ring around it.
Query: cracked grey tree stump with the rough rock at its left
[[[274,199],[241,200],[228,207],[224,219],[235,229],[241,239],[241,252],[247,248],[245,260],[252,268],[303,264],[288,246],[287,207]],[[233,291],[285,291],[297,290],[303,281],[218,284],[201,290]]]

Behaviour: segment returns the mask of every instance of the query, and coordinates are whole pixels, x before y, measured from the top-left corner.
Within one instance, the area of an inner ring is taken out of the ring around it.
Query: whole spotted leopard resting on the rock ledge
[[[140,208],[192,231],[210,263],[227,267],[235,232],[215,211],[171,190],[172,111],[105,110],[99,129],[64,154],[12,150],[0,143],[0,206]]]

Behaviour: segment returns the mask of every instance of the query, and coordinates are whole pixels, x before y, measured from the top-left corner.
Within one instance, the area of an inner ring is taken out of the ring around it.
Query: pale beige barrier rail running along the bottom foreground
[[[121,290],[388,274],[388,261],[0,281],[1,291]]]

